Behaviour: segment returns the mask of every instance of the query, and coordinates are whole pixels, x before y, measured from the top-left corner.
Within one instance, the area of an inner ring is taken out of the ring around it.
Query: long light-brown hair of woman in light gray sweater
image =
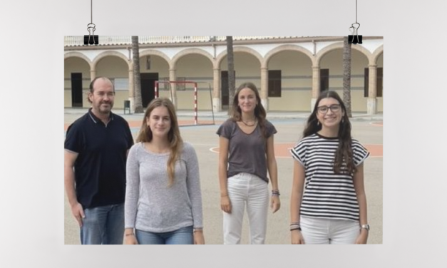
[[[168,132],[168,140],[170,143],[170,155],[168,159],[168,186],[173,185],[175,177],[175,162],[180,158],[181,150],[183,149],[183,140],[180,137],[180,129],[178,127],[177,115],[175,114],[175,107],[168,98],[155,98],[153,99],[146,109],[144,114],[143,123],[141,123],[140,133],[138,133],[137,143],[148,143],[153,139],[152,130],[146,123],[146,118],[150,117],[150,113],[160,106],[168,108],[170,117],[170,130]]]

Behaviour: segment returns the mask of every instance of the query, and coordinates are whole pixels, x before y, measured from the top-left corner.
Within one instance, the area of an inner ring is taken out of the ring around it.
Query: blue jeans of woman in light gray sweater
[[[145,232],[135,230],[138,244],[194,244],[192,226],[172,232]]]

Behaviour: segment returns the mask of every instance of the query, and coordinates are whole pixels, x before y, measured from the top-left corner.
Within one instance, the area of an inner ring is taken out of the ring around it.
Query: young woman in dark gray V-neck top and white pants
[[[250,244],[264,244],[269,203],[272,212],[280,207],[273,148],[277,130],[265,119],[253,83],[243,83],[237,89],[232,110],[232,117],[217,130],[224,244],[240,244],[245,207],[250,220]],[[267,170],[272,182],[270,202]]]

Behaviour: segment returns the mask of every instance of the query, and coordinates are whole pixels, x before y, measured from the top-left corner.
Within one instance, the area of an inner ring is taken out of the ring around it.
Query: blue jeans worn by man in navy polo
[[[81,244],[123,244],[124,204],[84,210]]]

